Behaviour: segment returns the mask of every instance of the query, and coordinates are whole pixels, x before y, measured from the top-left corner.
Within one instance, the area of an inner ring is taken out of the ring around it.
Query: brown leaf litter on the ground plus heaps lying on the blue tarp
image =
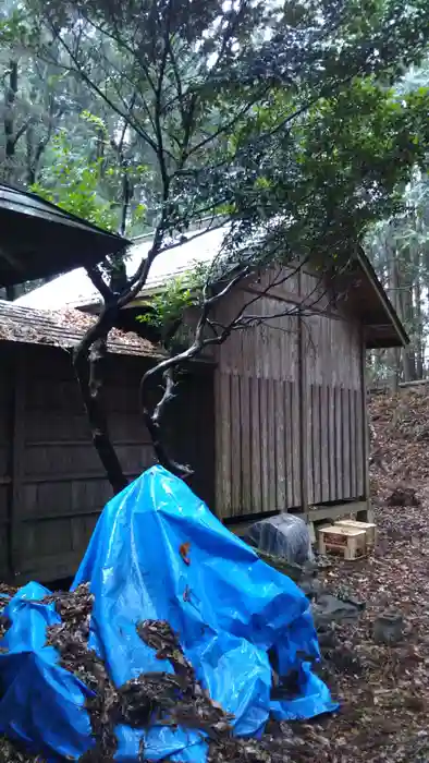
[[[87,761],[113,759],[115,724],[142,727],[168,714],[170,723],[208,735],[209,763],[428,763],[429,397],[420,390],[379,395],[370,413],[377,547],[356,562],[331,560],[319,573],[323,591],[366,602],[357,621],[333,626],[322,642],[320,673],[341,711],[311,723],[270,722],[261,741],[233,739],[228,714],[207,697],[176,637],[159,621],[140,623],[139,634],[170,661],[174,674],[146,674],[117,690],[87,649],[91,597],[82,586],[72,595],[52,594],[63,625],[49,629],[48,641],[59,649],[63,665],[97,692],[88,706],[97,746]],[[415,493],[420,505],[389,506],[399,487]],[[378,644],[372,635],[375,620],[385,610],[404,619],[404,637],[394,646]],[[0,740],[1,763],[27,761],[42,759]]]

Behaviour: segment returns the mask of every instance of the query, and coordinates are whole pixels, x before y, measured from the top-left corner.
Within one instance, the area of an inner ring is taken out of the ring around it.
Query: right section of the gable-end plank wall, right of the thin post
[[[307,350],[308,500],[365,493],[359,326],[322,315],[304,319]]]

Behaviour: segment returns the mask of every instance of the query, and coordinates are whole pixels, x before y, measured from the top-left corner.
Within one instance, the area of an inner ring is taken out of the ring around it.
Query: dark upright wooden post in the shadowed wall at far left
[[[21,522],[23,513],[23,477],[25,456],[25,356],[21,347],[15,348],[13,359],[13,417],[12,417],[12,491],[11,491],[11,567],[12,573],[20,573],[21,559]]]

